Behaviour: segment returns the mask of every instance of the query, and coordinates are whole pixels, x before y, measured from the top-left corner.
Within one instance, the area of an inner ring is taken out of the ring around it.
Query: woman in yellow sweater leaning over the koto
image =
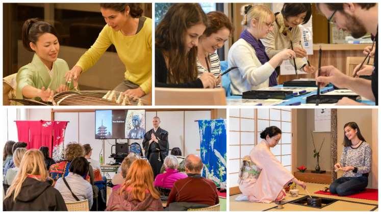
[[[152,20],[142,16],[137,3],[101,3],[100,12],[106,25],[95,43],[75,66],[66,73],[66,80],[74,85],[83,71],[93,66],[113,44],[125,65],[124,81],[114,90],[133,97],[151,92],[152,81]]]

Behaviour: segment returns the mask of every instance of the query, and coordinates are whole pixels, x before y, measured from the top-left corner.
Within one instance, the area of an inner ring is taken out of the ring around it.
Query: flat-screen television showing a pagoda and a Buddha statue
[[[95,139],[143,139],[145,110],[95,110]]]

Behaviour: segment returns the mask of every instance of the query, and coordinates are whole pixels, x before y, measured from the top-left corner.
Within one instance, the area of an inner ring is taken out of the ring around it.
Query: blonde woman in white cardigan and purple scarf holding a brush
[[[233,94],[276,86],[278,76],[275,68],[284,60],[295,57],[295,52],[284,49],[271,59],[260,39],[274,30],[275,16],[265,6],[246,5],[241,9],[244,31],[228,52],[228,67],[238,67],[229,75]]]

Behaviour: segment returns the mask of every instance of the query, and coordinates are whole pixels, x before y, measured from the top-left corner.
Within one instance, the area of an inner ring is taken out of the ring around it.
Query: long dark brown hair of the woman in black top
[[[155,31],[156,48],[168,56],[168,83],[187,83],[197,78],[197,47],[184,47],[184,35],[193,25],[208,25],[208,18],[197,3],[173,4]]]

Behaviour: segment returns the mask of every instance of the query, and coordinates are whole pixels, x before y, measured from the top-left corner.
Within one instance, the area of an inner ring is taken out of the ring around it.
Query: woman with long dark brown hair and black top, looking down
[[[214,88],[216,78],[198,76],[197,45],[208,18],[199,4],[173,4],[155,31],[155,86]]]

